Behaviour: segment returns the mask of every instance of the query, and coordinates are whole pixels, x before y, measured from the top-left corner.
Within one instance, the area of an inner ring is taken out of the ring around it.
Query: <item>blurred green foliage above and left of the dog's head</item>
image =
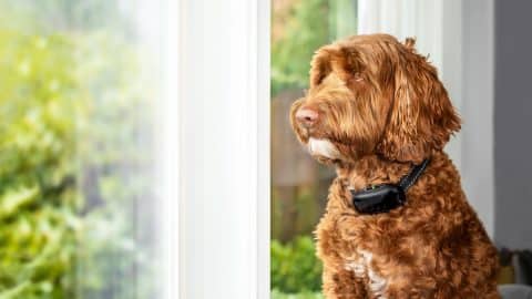
[[[287,12],[274,11],[273,96],[308,85],[314,52],[337,38],[356,34],[356,9],[355,0],[294,0]]]

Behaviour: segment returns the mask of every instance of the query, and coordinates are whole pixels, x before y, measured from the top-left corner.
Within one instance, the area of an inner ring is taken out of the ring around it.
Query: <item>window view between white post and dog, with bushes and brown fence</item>
[[[288,120],[304,95],[313,53],[356,33],[355,0],[272,2],[272,298],[320,298],[311,231],[324,213],[330,168],[313,161]]]

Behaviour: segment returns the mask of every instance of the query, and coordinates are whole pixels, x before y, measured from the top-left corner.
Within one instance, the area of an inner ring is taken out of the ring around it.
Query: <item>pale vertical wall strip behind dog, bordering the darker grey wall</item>
[[[493,0],[463,9],[462,185],[488,234],[494,235],[494,13]]]

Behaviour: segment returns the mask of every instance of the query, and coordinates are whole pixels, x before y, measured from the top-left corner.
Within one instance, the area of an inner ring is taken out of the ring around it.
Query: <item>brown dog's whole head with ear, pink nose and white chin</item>
[[[290,111],[293,128],[313,156],[328,163],[377,154],[419,163],[443,148],[460,118],[413,43],[358,35],[316,52],[310,87]]]

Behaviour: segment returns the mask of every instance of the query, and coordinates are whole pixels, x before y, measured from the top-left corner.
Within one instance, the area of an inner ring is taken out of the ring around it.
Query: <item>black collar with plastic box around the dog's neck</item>
[[[351,190],[352,205],[360,214],[380,214],[405,205],[407,189],[410,188],[427,168],[430,159],[426,158],[415,165],[398,184],[382,184],[366,187],[364,190]]]

